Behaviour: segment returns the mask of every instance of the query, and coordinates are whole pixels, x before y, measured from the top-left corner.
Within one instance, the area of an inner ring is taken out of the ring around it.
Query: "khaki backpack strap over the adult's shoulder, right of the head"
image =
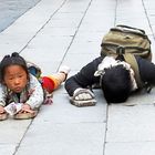
[[[125,53],[123,56],[124,56],[125,61],[128,64],[131,64],[132,69],[134,70],[135,80],[137,82],[138,87],[143,87],[144,84],[143,84],[143,82],[141,80],[141,76],[140,76],[138,64],[136,62],[135,56],[133,54],[131,54],[131,53]]]

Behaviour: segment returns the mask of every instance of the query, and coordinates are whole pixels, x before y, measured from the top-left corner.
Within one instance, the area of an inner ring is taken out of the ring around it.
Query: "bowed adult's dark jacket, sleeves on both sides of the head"
[[[149,84],[155,84],[155,64],[140,56],[135,58],[138,64],[141,80],[143,82],[148,82]],[[86,89],[87,86],[92,86],[100,82],[100,78],[94,76],[94,73],[102,60],[102,56],[96,58],[83,66],[75,75],[66,80],[65,90],[70,96],[72,96],[73,92],[79,87]]]

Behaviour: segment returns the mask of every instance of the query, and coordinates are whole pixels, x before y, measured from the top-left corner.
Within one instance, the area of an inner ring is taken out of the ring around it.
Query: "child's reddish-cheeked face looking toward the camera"
[[[4,71],[4,84],[14,93],[20,93],[28,83],[27,72],[20,65],[10,65]]]

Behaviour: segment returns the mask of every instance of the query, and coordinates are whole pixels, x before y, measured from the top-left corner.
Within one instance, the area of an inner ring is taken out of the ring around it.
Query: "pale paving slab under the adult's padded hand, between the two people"
[[[99,96],[96,105],[82,108],[70,104],[66,93],[55,92],[53,104],[41,107],[35,123],[105,123],[107,104],[100,97],[101,92],[95,91],[95,94]]]

